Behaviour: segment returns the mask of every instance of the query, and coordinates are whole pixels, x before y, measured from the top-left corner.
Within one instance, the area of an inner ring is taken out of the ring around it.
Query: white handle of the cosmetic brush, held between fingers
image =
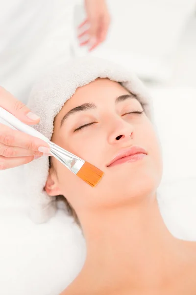
[[[19,131],[25,132],[31,136],[38,137],[49,143],[49,139],[41,134],[39,131],[35,130],[34,128],[26,125],[25,123],[21,122],[17,119],[14,115],[9,113],[8,111],[4,110],[0,107],[0,118],[4,119],[7,123],[9,123],[12,127],[16,128]]]

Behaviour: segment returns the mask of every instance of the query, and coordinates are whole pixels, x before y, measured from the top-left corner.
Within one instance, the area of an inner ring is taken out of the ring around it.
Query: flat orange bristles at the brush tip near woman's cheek
[[[92,187],[96,186],[103,177],[103,172],[92,164],[85,162],[76,174]]]

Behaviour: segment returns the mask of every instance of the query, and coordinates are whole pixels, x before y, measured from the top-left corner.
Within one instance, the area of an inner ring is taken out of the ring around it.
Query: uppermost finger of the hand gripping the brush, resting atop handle
[[[26,124],[37,124],[40,120],[36,114],[31,113],[24,103],[3,87],[0,87],[0,107]]]

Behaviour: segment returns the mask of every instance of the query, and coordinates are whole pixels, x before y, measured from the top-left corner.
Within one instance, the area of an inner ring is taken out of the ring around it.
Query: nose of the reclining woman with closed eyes
[[[123,118],[110,120],[109,127],[111,127],[108,136],[110,145],[117,144],[119,141],[131,141],[134,135],[134,128],[131,123],[126,122]]]

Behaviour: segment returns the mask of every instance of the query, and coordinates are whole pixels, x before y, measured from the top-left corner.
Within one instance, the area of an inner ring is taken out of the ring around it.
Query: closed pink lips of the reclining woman
[[[144,148],[133,146],[128,149],[122,149],[106,166],[114,166],[123,164],[125,162],[135,162],[143,159],[147,155],[147,151]]]

